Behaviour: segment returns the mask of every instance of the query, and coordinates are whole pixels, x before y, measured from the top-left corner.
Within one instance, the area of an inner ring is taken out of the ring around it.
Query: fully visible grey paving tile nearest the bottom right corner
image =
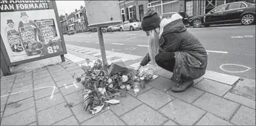
[[[219,96],[205,93],[193,102],[193,105],[202,108],[207,112],[211,112],[222,119],[228,120],[238,110],[239,104],[231,102]]]

